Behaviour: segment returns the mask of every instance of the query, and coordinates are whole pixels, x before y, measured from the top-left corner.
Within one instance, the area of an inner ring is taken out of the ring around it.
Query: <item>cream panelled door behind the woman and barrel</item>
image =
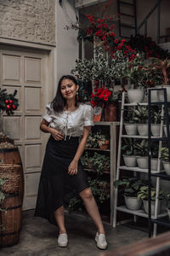
[[[23,209],[35,207],[44,154],[44,137],[39,130],[42,108],[48,103],[48,53],[0,47],[1,87],[17,90],[20,107],[14,115],[3,115],[3,130],[15,140],[25,173]],[[45,71],[45,72],[44,72]]]

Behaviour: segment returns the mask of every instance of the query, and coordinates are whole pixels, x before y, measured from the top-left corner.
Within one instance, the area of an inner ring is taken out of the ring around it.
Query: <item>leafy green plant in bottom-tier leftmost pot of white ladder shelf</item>
[[[124,195],[137,196],[139,189],[144,186],[144,182],[137,177],[122,177],[122,179],[116,180],[114,185],[122,186],[120,190]]]

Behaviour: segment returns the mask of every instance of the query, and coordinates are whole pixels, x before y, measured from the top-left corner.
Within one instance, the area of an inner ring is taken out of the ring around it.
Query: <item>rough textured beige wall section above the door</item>
[[[0,0],[0,37],[55,44],[56,0]]]

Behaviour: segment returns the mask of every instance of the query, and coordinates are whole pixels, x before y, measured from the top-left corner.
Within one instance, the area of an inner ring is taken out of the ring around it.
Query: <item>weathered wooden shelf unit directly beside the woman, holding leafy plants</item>
[[[85,150],[93,150],[97,152],[107,152],[108,155],[110,155],[110,160],[111,160],[111,170],[110,172],[104,172],[105,175],[110,175],[110,184],[111,184],[111,224],[113,222],[113,205],[114,205],[114,188],[113,188],[113,181],[116,176],[116,137],[118,137],[118,127],[119,127],[119,122],[105,122],[105,121],[100,121],[100,122],[94,122],[94,129],[99,126],[99,128],[102,130],[102,126],[107,126],[109,127],[110,131],[110,149],[100,149],[100,148],[85,148]],[[90,170],[90,169],[85,169],[87,172],[95,172],[95,170]]]

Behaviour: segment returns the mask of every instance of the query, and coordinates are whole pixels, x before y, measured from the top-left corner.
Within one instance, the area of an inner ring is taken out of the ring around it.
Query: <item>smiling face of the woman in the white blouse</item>
[[[63,79],[60,87],[61,95],[66,101],[75,100],[78,87],[78,84],[76,85],[71,79]]]

